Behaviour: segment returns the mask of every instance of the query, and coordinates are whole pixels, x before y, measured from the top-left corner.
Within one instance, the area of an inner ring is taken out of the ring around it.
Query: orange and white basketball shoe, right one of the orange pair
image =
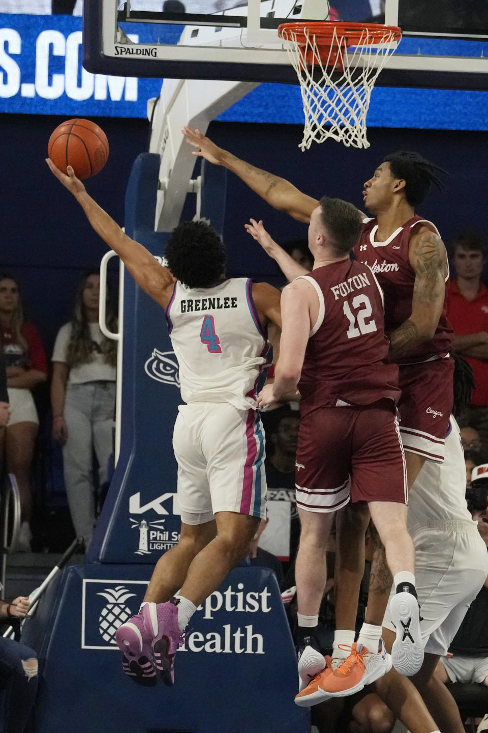
[[[362,644],[353,644],[350,650],[348,658],[319,682],[319,689],[331,697],[353,695],[391,669],[391,656],[383,639],[378,644],[378,652],[369,652]]]

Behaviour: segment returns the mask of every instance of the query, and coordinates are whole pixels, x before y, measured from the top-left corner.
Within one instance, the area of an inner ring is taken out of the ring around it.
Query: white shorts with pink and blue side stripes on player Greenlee
[[[264,444],[256,410],[228,402],[180,405],[173,449],[181,521],[203,524],[217,512],[266,519]]]

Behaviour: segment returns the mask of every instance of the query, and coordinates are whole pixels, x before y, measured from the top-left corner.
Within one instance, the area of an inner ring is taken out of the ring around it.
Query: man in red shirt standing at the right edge
[[[481,282],[486,262],[484,240],[477,232],[460,234],[452,243],[457,277],[448,291],[448,320],[454,328],[453,347],[473,369],[476,388],[460,427],[476,428],[488,444],[488,290]]]

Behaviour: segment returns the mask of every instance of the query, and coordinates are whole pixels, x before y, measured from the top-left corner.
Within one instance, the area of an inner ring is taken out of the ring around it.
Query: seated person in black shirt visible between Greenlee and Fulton
[[[289,405],[283,405],[271,413],[263,413],[268,452],[264,466],[268,485],[269,528],[260,544],[284,562],[285,572],[295,559],[300,536],[295,501],[299,422],[298,411],[292,410]]]

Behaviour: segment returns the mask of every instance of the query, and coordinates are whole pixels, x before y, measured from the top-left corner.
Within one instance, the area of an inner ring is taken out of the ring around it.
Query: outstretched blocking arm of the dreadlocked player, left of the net
[[[183,128],[181,130],[187,138],[187,143],[195,147],[193,155],[205,158],[209,163],[217,166],[224,166],[239,176],[252,191],[261,196],[272,207],[279,211],[285,211],[298,221],[310,221],[312,211],[317,207],[317,199],[302,194],[285,178],[280,178],[272,173],[263,171],[252,166],[246,161],[241,161],[235,155],[218,147],[208,137],[202,135],[198,130]]]

